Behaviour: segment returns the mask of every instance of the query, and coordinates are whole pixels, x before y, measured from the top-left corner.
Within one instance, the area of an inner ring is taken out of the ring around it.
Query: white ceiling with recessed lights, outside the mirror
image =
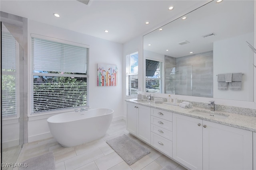
[[[210,0],[0,0],[0,10],[117,43],[144,35]],[[174,6],[174,10],[168,8]],[[53,16],[60,14],[60,18]],[[150,24],[146,25],[145,22]],[[108,30],[105,33],[104,30]]]

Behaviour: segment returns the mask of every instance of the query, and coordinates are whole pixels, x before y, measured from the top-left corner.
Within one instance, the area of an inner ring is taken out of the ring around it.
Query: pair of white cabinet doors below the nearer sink
[[[252,170],[252,132],[173,113],[173,158],[195,170]]]

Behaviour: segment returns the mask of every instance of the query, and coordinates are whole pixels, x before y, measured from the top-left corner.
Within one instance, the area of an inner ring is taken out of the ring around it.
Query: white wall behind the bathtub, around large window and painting
[[[91,108],[114,109],[113,121],[124,118],[122,98],[122,49],[123,45],[97,37],[84,35],[67,29],[28,20],[28,60],[31,62],[30,34],[39,34],[90,46],[89,52],[89,106]],[[97,63],[115,64],[118,67],[117,86],[97,86]],[[31,68],[29,68],[29,77]],[[31,81],[31,80],[29,80]],[[29,82],[29,94],[31,87]],[[29,104],[30,109],[30,104]],[[51,137],[46,119],[50,115],[30,116],[28,111],[28,142]]]

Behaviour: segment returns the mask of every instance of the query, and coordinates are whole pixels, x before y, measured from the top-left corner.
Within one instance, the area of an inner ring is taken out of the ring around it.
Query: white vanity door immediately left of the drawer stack
[[[137,136],[150,144],[150,107],[138,106]]]

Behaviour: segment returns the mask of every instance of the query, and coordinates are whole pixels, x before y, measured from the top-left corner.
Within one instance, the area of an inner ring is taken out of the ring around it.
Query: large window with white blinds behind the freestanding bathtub
[[[89,47],[32,37],[32,114],[88,104]]]

